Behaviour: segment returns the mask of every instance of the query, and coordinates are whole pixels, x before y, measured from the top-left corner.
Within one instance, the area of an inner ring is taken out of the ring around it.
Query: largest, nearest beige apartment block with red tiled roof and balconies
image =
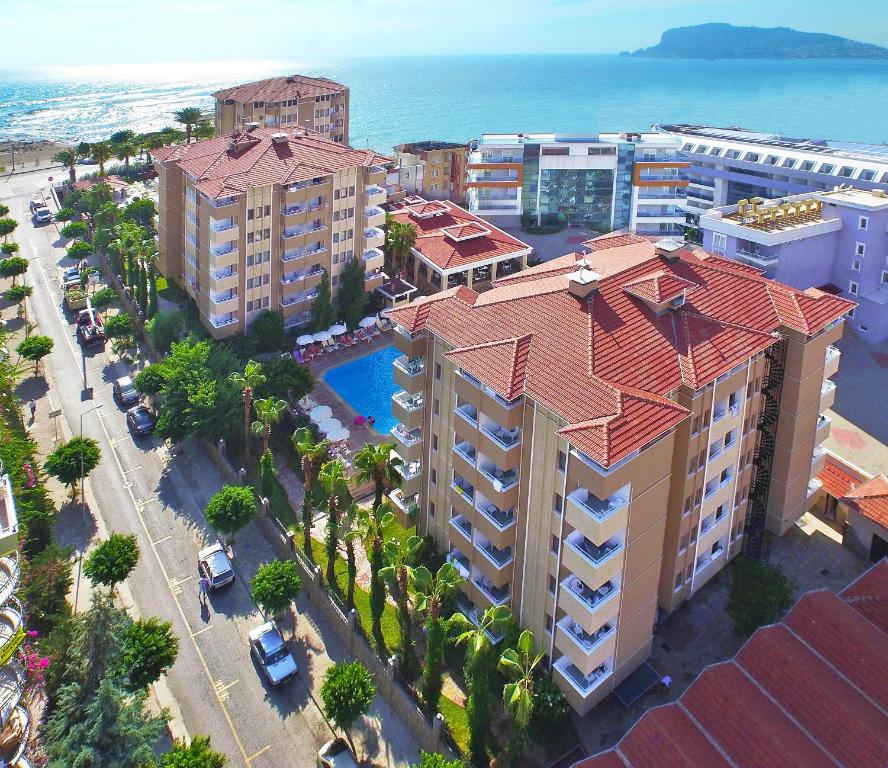
[[[805,512],[852,306],[670,240],[584,246],[388,313],[393,505],[470,619],[509,605],[534,632],[580,713],[648,657],[658,609]]]

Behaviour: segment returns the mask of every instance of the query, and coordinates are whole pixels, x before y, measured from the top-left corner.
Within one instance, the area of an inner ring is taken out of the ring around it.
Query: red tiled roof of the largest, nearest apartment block
[[[647,240],[586,256],[602,278],[590,298],[579,300],[568,285],[580,258],[568,254],[480,295],[466,290],[470,300],[439,299],[421,314],[410,305],[390,316],[411,332],[428,327],[456,348],[476,348],[477,378],[504,397],[514,390],[506,386],[512,378],[498,343],[530,336],[523,391],[558,414],[568,441],[604,466],[684,418],[668,399],[680,385],[699,389],[772,345],[779,328],[804,322],[814,332],[852,306],[812,298],[807,316],[787,319],[772,296],[795,300],[798,291],[690,251],[676,260],[658,256]],[[653,275],[699,288],[683,307],[657,315],[624,290]]]

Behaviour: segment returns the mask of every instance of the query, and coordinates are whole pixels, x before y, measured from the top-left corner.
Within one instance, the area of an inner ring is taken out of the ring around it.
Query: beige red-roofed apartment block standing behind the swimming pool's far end
[[[158,173],[158,269],[197,303],[214,338],[263,310],[306,323],[321,280],[361,259],[368,291],[382,272],[380,207],[389,158],[303,129],[248,126],[152,150]]]

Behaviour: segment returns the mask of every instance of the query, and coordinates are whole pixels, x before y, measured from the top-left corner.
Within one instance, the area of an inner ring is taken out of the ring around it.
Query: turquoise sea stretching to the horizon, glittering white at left
[[[481,133],[592,133],[682,122],[888,142],[888,61],[661,60],[613,55],[354,58],[0,70],[0,139],[95,141],[212,109],[237,83],[300,73],[351,88],[351,143]]]

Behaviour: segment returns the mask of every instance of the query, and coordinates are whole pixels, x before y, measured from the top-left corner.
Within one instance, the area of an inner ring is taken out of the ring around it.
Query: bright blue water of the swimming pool
[[[392,395],[398,390],[392,362],[400,355],[393,345],[383,347],[357,360],[337,365],[324,374],[327,386],[356,413],[373,416],[376,419],[374,429],[384,435],[397,424],[392,416]]]

